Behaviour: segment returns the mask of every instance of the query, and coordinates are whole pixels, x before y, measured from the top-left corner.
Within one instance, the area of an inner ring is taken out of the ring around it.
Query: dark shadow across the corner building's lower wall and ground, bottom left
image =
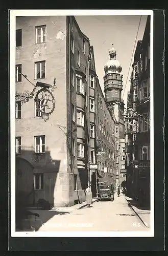
[[[34,153],[33,151],[22,151],[16,156],[16,227],[18,230],[27,228],[23,224],[32,216],[40,218],[40,214],[32,209],[35,207],[47,209],[44,222],[58,214],[57,211],[50,211],[54,206],[54,189],[59,172],[60,160],[53,160],[50,151],[45,153]],[[39,203],[40,200],[43,202]],[[37,209],[39,211],[39,209]],[[49,212],[49,213],[47,213]],[[66,212],[65,212],[66,213]],[[63,212],[61,213],[63,214]],[[36,222],[37,223],[37,222]],[[38,221],[38,223],[41,223]],[[30,227],[30,225],[28,225]],[[39,227],[38,227],[39,228]]]

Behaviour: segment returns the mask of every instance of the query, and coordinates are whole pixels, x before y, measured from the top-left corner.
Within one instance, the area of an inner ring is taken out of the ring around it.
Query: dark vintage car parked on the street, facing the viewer
[[[114,200],[114,179],[110,177],[99,178],[97,201]]]

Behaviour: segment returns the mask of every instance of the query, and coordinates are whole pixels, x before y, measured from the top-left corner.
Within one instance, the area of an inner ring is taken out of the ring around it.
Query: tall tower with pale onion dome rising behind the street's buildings
[[[109,109],[113,112],[119,127],[119,139],[124,139],[124,101],[122,99],[123,75],[122,67],[116,60],[116,50],[112,48],[109,51],[110,59],[107,61],[104,71],[104,92]]]

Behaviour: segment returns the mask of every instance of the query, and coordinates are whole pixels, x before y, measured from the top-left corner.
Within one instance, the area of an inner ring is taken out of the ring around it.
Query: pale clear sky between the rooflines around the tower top
[[[132,52],[134,49],[136,34],[138,30],[139,15],[106,15],[106,16],[75,16],[81,31],[90,39],[90,45],[94,49],[95,68],[104,91],[104,66],[109,60],[109,50],[112,43],[116,49],[116,59],[122,66],[123,91],[122,98],[127,102],[127,91],[130,89],[130,76],[132,68],[128,71]],[[137,40],[141,40],[145,31],[147,16],[141,17]],[[136,46],[135,46],[136,49]],[[133,56],[134,58],[134,56]],[[133,63],[132,58],[132,63]],[[131,66],[132,66],[131,63]],[[128,76],[128,80],[127,80]],[[126,84],[127,80],[127,84]],[[126,89],[124,93],[124,87]],[[124,95],[123,95],[124,93]]]

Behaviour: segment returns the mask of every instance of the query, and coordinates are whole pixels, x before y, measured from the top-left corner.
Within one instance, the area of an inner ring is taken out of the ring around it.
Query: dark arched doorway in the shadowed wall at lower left
[[[16,158],[16,204],[34,204],[33,169],[26,159]]]

